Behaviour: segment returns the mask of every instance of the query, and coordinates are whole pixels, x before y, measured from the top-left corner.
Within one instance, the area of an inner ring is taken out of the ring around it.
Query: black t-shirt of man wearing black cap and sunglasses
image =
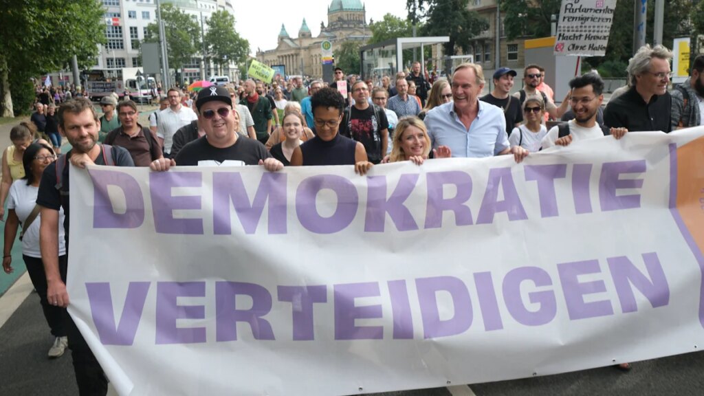
[[[257,165],[260,159],[271,154],[264,144],[246,137],[238,137],[230,147],[219,149],[208,143],[206,136],[186,144],[174,159],[177,166],[197,166],[199,161],[242,161],[245,165]]]

